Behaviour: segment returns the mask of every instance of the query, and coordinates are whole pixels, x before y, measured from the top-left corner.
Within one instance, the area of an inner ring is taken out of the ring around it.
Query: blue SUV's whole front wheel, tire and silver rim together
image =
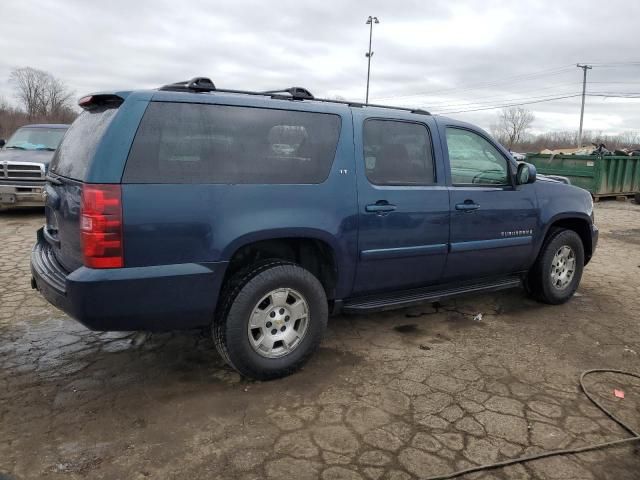
[[[583,268],[584,246],[580,236],[573,230],[554,230],[529,273],[529,290],[541,302],[564,303],[578,289]]]

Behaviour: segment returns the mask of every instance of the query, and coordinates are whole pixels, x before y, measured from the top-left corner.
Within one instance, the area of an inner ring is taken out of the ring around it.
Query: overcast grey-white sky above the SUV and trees
[[[579,94],[585,62],[589,93],[640,97],[638,0],[2,0],[0,96],[12,100],[11,70],[30,66],[78,97],[210,76],[363,101],[368,15],[380,19],[371,102],[488,129],[487,107]],[[578,127],[579,97],[525,107],[536,132]],[[587,97],[585,129],[640,131],[640,98]]]

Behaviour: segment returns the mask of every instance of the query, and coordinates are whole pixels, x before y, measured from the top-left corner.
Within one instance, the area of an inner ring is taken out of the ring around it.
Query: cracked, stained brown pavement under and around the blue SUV
[[[599,249],[566,305],[515,290],[332,318],[308,366],[267,383],[204,332],[91,332],[49,306],[29,286],[41,215],[0,214],[0,477],[409,480],[627,435],[578,377],[640,372],[638,205],[597,206]],[[587,383],[640,429],[640,381]],[[465,478],[639,476],[627,445]]]

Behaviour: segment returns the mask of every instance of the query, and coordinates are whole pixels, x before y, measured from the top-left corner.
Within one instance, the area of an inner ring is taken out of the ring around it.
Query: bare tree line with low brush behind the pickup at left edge
[[[17,105],[0,98],[0,138],[9,138],[16,129],[30,123],[71,123],[78,116],[74,92],[49,72],[15,68],[9,83]]]

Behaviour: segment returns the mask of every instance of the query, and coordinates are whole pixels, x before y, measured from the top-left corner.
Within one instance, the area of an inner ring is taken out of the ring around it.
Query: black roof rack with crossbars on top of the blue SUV
[[[408,107],[394,107],[392,105],[378,105],[375,103],[361,103],[351,102],[348,100],[333,100],[329,98],[316,98],[313,94],[303,87],[290,87],[281,90],[267,90],[264,92],[254,92],[250,90],[231,90],[226,88],[216,88],[213,82],[207,77],[195,77],[191,80],[185,80],[184,82],[171,83],[160,87],[163,91],[172,92],[193,92],[193,93],[205,93],[205,92],[220,92],[220,93],[239,93],[242,95],[257,95],[267,96],[280,100],[314,100],[316,102],[324,103],[339,103],[342,105],[348,105],[350,107],[375,107],[375,108],[389,108],[392,110],[401,110],[404,112],[410,112],[418,115],[431,115],[426,110],[420,108],[408,108]],[[282,95],[288,94],[288,95]]]

